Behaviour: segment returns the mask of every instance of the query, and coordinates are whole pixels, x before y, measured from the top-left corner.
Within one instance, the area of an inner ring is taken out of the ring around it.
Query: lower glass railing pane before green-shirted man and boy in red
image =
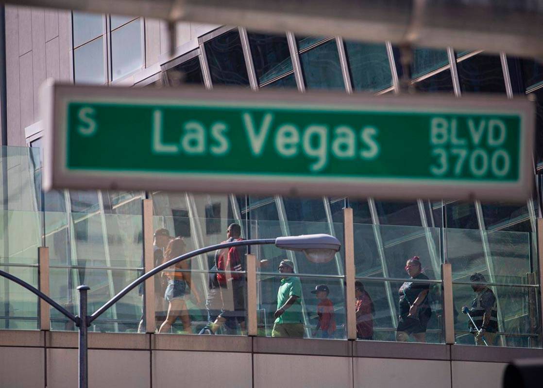
[[[345,339],[343,284],[343,277],[340,276],[258,274],[258,335]],[[299,298],[277,317],[276,312],[290,295]]]

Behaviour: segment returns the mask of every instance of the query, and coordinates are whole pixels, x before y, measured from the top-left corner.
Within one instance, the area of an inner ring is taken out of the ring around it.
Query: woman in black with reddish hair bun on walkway
[[[407,260],[405,269],[411,279],[428,280],[428,276],[422,273],[419,256]],[[426,326],[432,315],[428,291],[430,283],[405,282],[400,287],[400,316],[396,328],[396,341],[405,342],[412,335],[415,341],[426,342]]]

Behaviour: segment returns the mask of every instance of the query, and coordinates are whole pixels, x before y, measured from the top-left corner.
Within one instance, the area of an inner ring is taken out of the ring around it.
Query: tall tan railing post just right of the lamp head
[[[347,313],[347,339],[356,339],[355,312],[355,238],[352,209],[343,209],[343,247],[345,253],[345,310]]]

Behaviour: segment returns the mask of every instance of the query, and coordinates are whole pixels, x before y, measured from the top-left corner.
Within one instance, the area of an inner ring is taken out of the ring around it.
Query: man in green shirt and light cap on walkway
[[[288,276],[294,273],[294,263],[283,260],[279,264],[281,286],[277,292],[277,311],[273,315],[275,323],[271,337],[304,338],[304,317],[302,316],[302,284],[298,277]]]

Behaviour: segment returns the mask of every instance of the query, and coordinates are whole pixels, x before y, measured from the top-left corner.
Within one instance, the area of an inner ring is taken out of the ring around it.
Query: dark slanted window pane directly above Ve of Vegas
[[[285,35],[247,35],[258,83],[273,80],[292,70],[291,53]]]

